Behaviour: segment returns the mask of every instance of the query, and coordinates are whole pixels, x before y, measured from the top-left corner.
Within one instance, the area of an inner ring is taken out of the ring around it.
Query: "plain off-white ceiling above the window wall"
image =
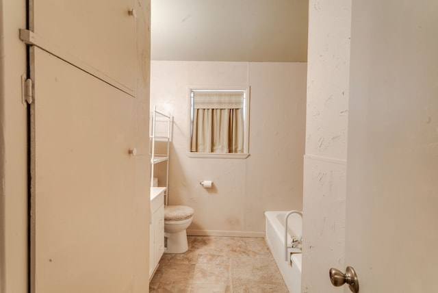
[[[151,59],[306,62],[308,0],[151,0]]]

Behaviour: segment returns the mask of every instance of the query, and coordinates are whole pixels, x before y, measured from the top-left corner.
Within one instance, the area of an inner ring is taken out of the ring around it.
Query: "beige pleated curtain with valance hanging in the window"
[[[194,91],[191,151],[244,152],[244,92]]]

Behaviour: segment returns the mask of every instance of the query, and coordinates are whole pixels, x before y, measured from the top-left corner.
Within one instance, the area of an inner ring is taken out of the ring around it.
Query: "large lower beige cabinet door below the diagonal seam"
[[[144,238],[129,155],[136,99],[38,48],[31,60],[34,292],[130,292]]]

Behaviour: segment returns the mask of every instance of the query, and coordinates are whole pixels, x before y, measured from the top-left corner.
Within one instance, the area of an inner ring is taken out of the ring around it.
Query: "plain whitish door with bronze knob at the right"
[[[438,292],[437,30],[436,1],[353,1],[345,264],[361,293]]]

